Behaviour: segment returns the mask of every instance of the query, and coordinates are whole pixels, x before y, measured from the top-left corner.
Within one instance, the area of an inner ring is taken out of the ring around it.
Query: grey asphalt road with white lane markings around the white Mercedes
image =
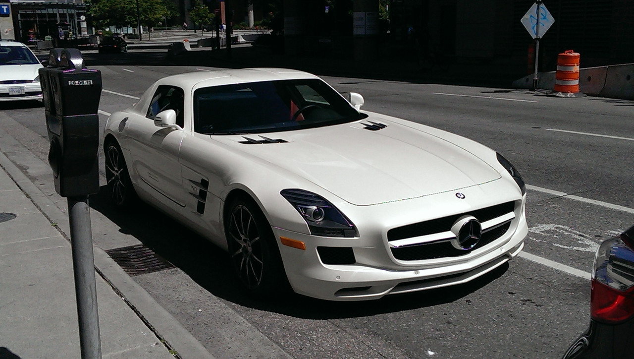
[[[103,75],[102,124],[107,114],[132,105],[156,79],[211,69],[93,68]],[[91,197],[95,244],[108,250],[140,241],[174,264],[133,278],[218,358],[562,355],[588,323],[586,276],[593,252],[601,240],[634,224],[634,102],[324,79],[339,91],[361,93],[364,110],[446,129],[484,143],[514,163],[529,185],[525,255],[467,285],[372,302],[330,303],[299,295],[280,301],[245,297],[216,247],[148,206],[114,211],[103,193]],[[0,108],[10,118],[3,129],[40,161],[29,155],[11,159],[44,193],[57,198],[42,165],[48,153],[43,108],[37,103]],[[64,199],[57,203],[65,207]],[[273,352],[275,346],[281,351]]]

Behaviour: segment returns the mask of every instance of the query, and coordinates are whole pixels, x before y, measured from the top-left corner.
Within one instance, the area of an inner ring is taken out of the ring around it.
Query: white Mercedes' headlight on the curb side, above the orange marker
[[[312,235],[357,236],[353,223],[337,207],[321,196],[304,190],[283,190],[280,194],[302,215]]]

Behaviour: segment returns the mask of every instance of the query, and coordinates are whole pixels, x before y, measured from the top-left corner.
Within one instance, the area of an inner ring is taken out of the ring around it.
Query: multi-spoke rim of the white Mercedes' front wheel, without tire
[[[231,261],[238,270],[240,279],[254,289],[262,282],[264,263],[262,245],[256,221],[249,209],[238,205],[229,219]]]

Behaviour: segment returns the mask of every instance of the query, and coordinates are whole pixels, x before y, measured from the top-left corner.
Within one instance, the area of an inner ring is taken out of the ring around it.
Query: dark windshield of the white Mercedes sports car
[[[319,79],[250,82],[194,92],[194,130],[203,134],[289,131],[365,117]]]

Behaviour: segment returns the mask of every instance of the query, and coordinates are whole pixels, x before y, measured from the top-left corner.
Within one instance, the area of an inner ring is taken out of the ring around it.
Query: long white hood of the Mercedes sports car
[[[369,120],[372,121],[372,118]],[[275,164],[359,206],[459,190],[501,178],[467,150],[395,122],[375,131],[353,122],[301,131],[231,136],[231,146]],[[224,140],[229,140],[224,138]],[[223,140],[223,141],[224,141]]]

